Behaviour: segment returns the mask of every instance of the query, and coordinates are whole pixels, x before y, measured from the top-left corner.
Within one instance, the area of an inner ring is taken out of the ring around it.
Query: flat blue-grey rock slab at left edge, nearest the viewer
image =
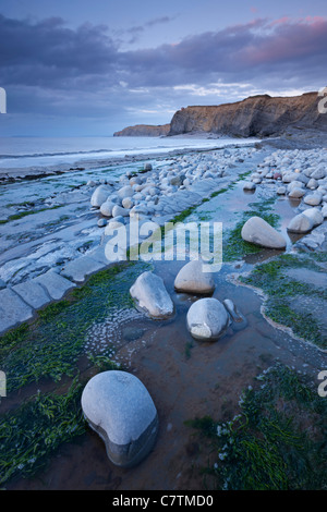
[[[33,309],[15,292],[0,290],[0,334],[33,318]]]

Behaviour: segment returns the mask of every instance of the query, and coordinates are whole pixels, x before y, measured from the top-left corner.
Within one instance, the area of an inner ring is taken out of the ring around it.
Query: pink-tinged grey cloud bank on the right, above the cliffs
[[[140,85],[205,83],[218,77],[261,80],[275,71],[280,82],[294,73],[299,80],[324,78],[327,20],[310,19],[271,24],[256,20],[216,33],[190,36],[177,45],[126,52],[123,58]],[[144,74],[140,71],[144,70]],[[300,85],[300,84],[299,84]]]

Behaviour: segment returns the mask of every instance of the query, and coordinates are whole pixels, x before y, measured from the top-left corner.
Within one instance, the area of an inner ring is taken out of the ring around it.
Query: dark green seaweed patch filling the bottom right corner
[[[262,386],[244,392],[232,420],[187,422],[213,444],[205,480],[220,490],[326,489],[326,399],[279,364],[257,380]]]

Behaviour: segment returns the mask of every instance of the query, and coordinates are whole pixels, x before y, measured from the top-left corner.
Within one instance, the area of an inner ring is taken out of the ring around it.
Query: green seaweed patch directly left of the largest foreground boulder
[[[27,477],[45,466],[63,442],[85,432],[82,385],[75,378],[65,394],[38,393],[0,420],[0,484]]]

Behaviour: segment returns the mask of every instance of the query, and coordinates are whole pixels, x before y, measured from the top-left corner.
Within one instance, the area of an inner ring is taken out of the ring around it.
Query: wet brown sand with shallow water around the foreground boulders
[[[241,331],[230,327],[215,343],[193,340],[185,315],[197,297],[173,292],[173,279],[182,265],[156,267],[165,276],[175,316],[166,321],[146,317],[123,321],[117,332],[122,338],[130,327],[135,337],[141,334],[122,344],[114,359],[143,381],[155,401],[160,427],[153,452],[134,468],[118,468],[108,460],[104,442],[87,429],[75,442],[62,446],[46,471],[33,479],[12,480],[8,489],[210,489],[213,483],[204,480],[201,470],[213,465],[217,454],[184,422],[206,415],[217,422],[232,419],[240,412],[242,391],[254,386],[254,378],[277,359],[315,379],[324,354],[269,325],[261,314],[263,300],[226,279],[231,268],[216,276],[214,296],[241,305],[249,325]]]

